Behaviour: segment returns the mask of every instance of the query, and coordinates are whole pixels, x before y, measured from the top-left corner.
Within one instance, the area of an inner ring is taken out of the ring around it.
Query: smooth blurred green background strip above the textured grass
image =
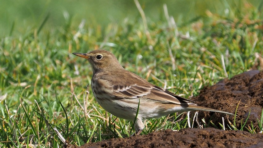
[[[244,1],[217,0],[141,0],[139,1],[148,20],[158,22],[165,21],[163,4],[167,4],[170,16],[173,16],[177,25],[184,25],[199,17],[205,16],[207,10],[219,15],[235,15],[229,12],[232,8],[242,10]],[[246,1],[262,11],[261,0]],[[120,23],[124,19],[137,20],[140,16],[133,0],[0,0],[0,37],[10,33],[24,34],[32,28],[39,27],[47,18],[46,27],[57,27],[65,25],[68,20],[73,26],[85,20],[86,24],[106,26],[114,22]]]

